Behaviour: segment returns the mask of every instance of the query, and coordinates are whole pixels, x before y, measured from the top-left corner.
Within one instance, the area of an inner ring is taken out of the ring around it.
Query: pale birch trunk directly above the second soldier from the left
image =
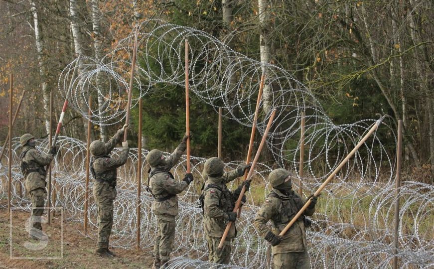
[[[95,49],[95,59],[98,60],[98,62],[101,61],[102,58],[102,35],[101,35],[101,10],[98,6],[98,0],[92,0],[92,28],[93,28],[93,34],[94,34],[94,49]],[[107,141],[107,131],[106,126],[101,121],[101,116],[103,114],[104,108],[104,98],[101,91],[101,77],[99,74],[97,74],[97,92],[98,92],[98,112],[100,116],[100,138],[102,141]]]

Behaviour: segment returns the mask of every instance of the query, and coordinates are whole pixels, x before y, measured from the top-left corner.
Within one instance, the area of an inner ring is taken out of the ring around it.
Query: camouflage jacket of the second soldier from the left
[[[124,131],[119,130],[107,143],[105,143],[106,154],[121,141]],[[112,186],[116,186],[117,168],[124,165],[128,159],[129,148],[124,147],[119,154],[119,157],[111,157],[109,155],[93,156],[91,161],[91,169],[94,179],[98,182],[108,182]]]

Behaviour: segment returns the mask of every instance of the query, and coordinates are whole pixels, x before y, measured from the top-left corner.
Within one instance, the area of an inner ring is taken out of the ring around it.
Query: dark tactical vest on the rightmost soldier
[[[298,211],[303,207],[303,203],[297,195],[294,194],[294,191],[291,191],[289,197],[281,197],[276,192],[272,191],[268,195],[268,197],[275,197],[281,201],[279,206],[279,213],[275,217],[273,217],[272,221],[275,227],[278,227],[282,224],[288,224],[289,221],[298,213]],[[268,198],[267,197],[267,198]],[[303,216],[304,217],[304,216]],[[302,220],[300,218],[300,220]]]

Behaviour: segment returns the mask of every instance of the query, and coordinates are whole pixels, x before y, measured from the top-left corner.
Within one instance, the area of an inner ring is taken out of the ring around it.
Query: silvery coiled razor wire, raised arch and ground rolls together
[[[302,184],[308,196],[322,180],[337,167],[340,161],[367,132],[375,120],[363,120],[353,124],[334,125],[325,115],[315,97],[289,72],[274,65],[264,65],[237,53],[209,34],[159,20],[149,20],[137,26],[139,50],[137,74],[134,77],[135,92],[132,107],[140,98],[153,91],[155,84],[184,85],[184,39],[190,44],[189,83],[191,92],[215,111],[222,107],[224,117],[251,127],[259,89],[262,68],[267,69],[266,86],[273,91],[263,102],[258,130],[263,134],[269,111],[278,113],[269,133],[267,145],[278,164],[296,170],[299,154],[298,136],[301,112],[306,113],[305,145],[308,148],[304,167],[308,173],[294,186]],[[125,118],[126,90],[131,63],[134,32],[119,41],[118,46],[103,60],[82,57],[77,65],[79,75],[72,81],[70,95],[73,109],[87,118],[89,95],[98,96],[100,107],[92,111],[94,124],[113,125]],[[77,59],[68,65],[59,79],[60,92],[66,96],[70,75]],[[233,78],[236,78],[235,80]],[[235,82],[234,82],[235,81]],[[268,111],[268,112],[267,112]],[[236,116],[240,115],[240,116]],[[391,127],[389,132],[394,137]],[[288,148],[288,144],[297,144]],[[83,222],[86,155],[85,143],[71,138],[59,137],[60,153],[53,167],[52,201],[54,206],[63,206],[69,220]],[[46,149],[47,140],[39,142]],[[29,200],[20,193],[23,189],[22,175],[17,164],[19,145],[13,144],[12,204],[29,209]],[[113,155],[120,152],[115,148]],[[118,171],[118,197],[115,201],[113,246],[129,248],[135,244],[137,221],[137,149],[130,151],[126,165]],[[143,157],[147,151],[142,152]],[[6,160],[5,160],[6,161]],[[207,250],[202,225],[202,211],[197,205],[197,193],[203,182],[201,170],[205,158],[191,157],[195,184],[179,196],[179,215],[176,218],[175,250],[170,268],[211,268],[206,260]],[[317,204],[314,225],[308,231],[309,253],[314,268],[383,268],[393,259],[393,209],[394,209],[394,160],[388,155],[380,137],[373,135],[359,149],[354,158],[344,166],[327,185]],[[227,163],[226,170],[236,169],[243,161]],[[177,180],[185,172],[185,157],[174,167]],[[315,171],[321,167],[323,173]],[[145,163],[142,164],[144,178]],[[267,175],[271,167],[259,163],[251,190],[247,193],[242,217],[237,220],[238,237],[233,240],[231,264],[247,268],[266,268],[270,264],[269,244],[253,226],[253,219],[271,189]],[[298,172],[298,171],[296,171]],[[0,175],[5,178],[7,167],[0,166]],[[383,178],[380,180],[380,176]],[[237,181],[239,183],[239,180]],[[232,188],[237,182],[231,183]],[[2,182],[0,196],[7,195]],[[91,186],[92,188],[92,182]],[[401,210],[399,225],[398,258],[404,268],[430,268],[433,261],[433,205],[432,185],[406,181],[400,189]],[[96,206],[93,198],[89,203],[90,224],[96,226]],[[141,203],[141,246],[153,245],[156,219],[150,210],[152,198],[143,192]],[[91,235],[96,238],[96,235]]]

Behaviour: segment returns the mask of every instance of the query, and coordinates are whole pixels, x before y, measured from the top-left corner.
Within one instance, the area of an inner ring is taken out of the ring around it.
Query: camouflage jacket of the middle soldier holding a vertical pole
[[[164,164],[151,168],[152,177],[149,178],[149,188],[155,200],[152,202],[152,212],[160,218],[167,220],[178,215],[178,197],[176,194],[181,193],[188,186],[185,181],[175,181],[170,169],[179,161],[186,144],[181,142],[176,149],[165,158]],[[157,171],[154,171],[157,170]],[[158,201],[163,200],[163,201]]]

